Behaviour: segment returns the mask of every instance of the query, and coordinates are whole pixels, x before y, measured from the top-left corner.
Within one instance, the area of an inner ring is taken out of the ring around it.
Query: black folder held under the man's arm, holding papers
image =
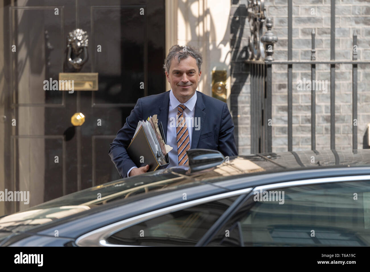
[[[159,128],[159,131],[161,132],[163,141],[166,142],[164,135],[163,135],[162,123],[159,124],[158,128]],[[137,167],[142,167],[142,166],[149,164],[148,172],[166,168],[169,164],[168,154],[165,155],[166,164],[162,164],[162,165],[159,164],[157,157],[155,156],[154,152],[150,148],[150,144],[149,144],[147,135],[145,134],[143,127],[139,128],[139,131],[137,132],[135,137],[132,139],[131,143],[128,145],[127,154],[129,155],[129,157],[132,159],[132,161]]]

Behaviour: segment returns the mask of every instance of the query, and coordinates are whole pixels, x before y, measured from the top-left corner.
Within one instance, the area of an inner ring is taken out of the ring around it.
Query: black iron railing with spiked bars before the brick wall
[[[266,19],[266,33],[260,38],[263,43],[263,51],[256,54],[255,51],[260,48],[256,44],[260,42],[254,38],[258,35],[251,34],[249,40],[249,60],[246,61],[249,65],[250,84],[251,84],[251,152],[272,152],[272,65],[286,64],[287,65],[287,137],[288,151],[293,149],[293,130],[292,130],[292,94],[293,94],[293,64],[310,64],[311,65],[311,80],[316,82],[316,64],[330,64],[330,149],[335,149],[335,65],[336,64],[352,64],[352,147],[357,149],[357,65],[370,64],[370,61],[357,60],[357,34],[353,32],[353,57],[352,61],[336,61],[335,60],[335,0],[331,0],[331,25],[330,25],[330,60],[316,60],[315,50],[315,32],[312,30],[312,49],[310,61],[295,61],[292,60],[292,0],[288,0],[288,60],[275,61],[273,60],[273,47],[277,41],[277,37],[273,35],[272,21],[265,17],[264,0],[250,1],[248,5],[248,18],[253,30],[260,30],[263,22]],[[258,25],[258,27],[255,27]],[[260,33],[260,31],[259,31]],[[266,56],[264,56],[266,54]],[[261,56],[261,58],[256,58]],[[263,57],[264,60],[263,60]],[[312,84],[311,90],[311,149],[316,150],[316,84]]]

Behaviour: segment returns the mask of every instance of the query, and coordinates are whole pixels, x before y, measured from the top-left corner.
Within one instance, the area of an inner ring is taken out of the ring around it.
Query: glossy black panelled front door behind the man
[[[164,10],[164,0],[5,3],[4,187],[30,192],[29,204],[7,203],[5,213],[120,178],[109,144],[138,98],[165,91]],[[88,35],[78,72],[98,73],[98,90],[44,90],[44,80],[77,72],[66,61],[76,28]],[[83,125],[71,124],[75,113]]]

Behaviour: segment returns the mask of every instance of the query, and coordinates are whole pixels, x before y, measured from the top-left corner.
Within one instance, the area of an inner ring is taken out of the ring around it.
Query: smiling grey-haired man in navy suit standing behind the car
[[[201,78],[202,54],[190,46],[172,46],[163,68],[171,90],[139,98],[124,126],[110,144],[109,155],[121,177],[145,173],[149,165],[139,167],[129,158],[126,148],[134,136],[138,121],[157,114],[167,144],[173,149],[169,165],[188,164],[190,148],[219,150],[224,156],[236,156],[234,123],[226,103],[196,91]]]

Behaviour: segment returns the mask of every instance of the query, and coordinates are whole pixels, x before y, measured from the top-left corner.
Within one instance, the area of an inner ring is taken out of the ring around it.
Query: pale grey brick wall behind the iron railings
[[[287,60],[287,0],[267,0],[273,19],[275,60]],[[250,36],[247,0],[231,1],[231,111],[239,154],[250,152],[250,77],[244,64]],[[370,1],[336,0],[336,60],[352,60],[357,32],[358,60],[370,60]],[[316,60],[330,60],[330,0],[293,0],[293,60],[310,60],[311,32],[316,33]],[[265,32],[266,28],[264,27]],[[272,151],[287,151],[287,65],[272,70]],[[311,66],[293,65],[293,151],[311,149],[311,91],[298,90],[298,80],[311,79]],[[316,80],[327,80],[327,93],[316,91],[316,149],[330,149],[330,65],[316,65]],[[352,147],[352,65],[338,64],[335,73],[336,149]],[[363,148],[370,122],[370,64],[358,66],[358,148]]]

